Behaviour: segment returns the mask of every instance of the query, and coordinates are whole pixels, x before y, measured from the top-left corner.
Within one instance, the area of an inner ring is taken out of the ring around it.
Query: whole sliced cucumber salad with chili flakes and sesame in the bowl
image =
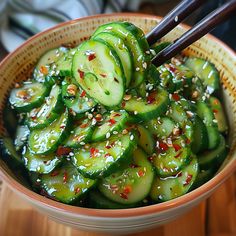
[[[146,206],[204,184],[228,152],[219,73],[184,55],[156,67],[168,44],[112,22],[46,52],[9,94],[2,158],[37,193],[82,207]]]

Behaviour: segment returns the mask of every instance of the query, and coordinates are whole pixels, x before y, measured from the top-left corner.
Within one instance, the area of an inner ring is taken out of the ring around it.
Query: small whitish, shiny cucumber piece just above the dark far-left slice
[[[28,140],[30,130],[27,125],[19,125],[16,129],[14,145],[16,151],[19,151]]]

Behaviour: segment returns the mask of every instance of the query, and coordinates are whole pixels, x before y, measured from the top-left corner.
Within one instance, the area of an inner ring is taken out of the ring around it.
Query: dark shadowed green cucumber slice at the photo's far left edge
[[[12,167],[24,166],[21,155],[15,149],[13,141],[10,137],[0,139],[1,157]]]

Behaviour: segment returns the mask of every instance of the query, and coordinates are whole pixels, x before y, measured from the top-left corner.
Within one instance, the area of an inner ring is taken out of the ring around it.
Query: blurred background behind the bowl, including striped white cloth
[[[13,51],[34,34],[58,23],[84,16],[141,12],[166,15],[179,0],[0,0],[0,55]],[[206,0],[185,23],[193,25],[226,0]],[[236,49],[236,16],[211,33]]]

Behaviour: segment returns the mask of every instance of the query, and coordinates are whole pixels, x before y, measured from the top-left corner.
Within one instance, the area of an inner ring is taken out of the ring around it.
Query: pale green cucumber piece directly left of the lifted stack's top
[[[56,61],[56,74],[59,76],[72,76],[72,59],[76,51],[77,48],[72,48]]]

